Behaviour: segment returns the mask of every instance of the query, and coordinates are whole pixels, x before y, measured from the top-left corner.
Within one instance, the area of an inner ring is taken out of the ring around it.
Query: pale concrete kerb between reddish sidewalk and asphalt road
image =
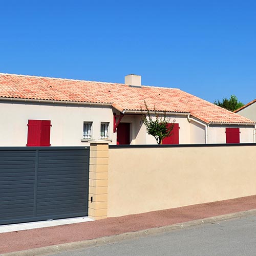
[[[236,219],[236,218],[246,217],[246,216],[251,216],[251,215],[256,215],[256,209],[235,212],[235,213],[227,214],[227,215],[209,217],[209,218],[200,219],[200,220],[177,223],[177,224],[173,224],[173,225],[169,225],[169,226],[156,227],[156,228],[144,229],[144,230],[139,230],[139,231],[134,231],[134,232],[115,234],[115,235],[109,236],[109,237],[101,237],[101,238],[95,238],[95,239],[86,240],[86,241],[80,241],[80,242],[52,245],[52,246],[34,248],[34,249],[18,251],[18,252],[17,251],[9,252],[9,253],[0,254],[0,256],[16,256],[17,253],[19,256],[32,256],[32,255],[43,256],[43,255],[60,253],[60,252],[65,252],[65,251],[70,251],[70,250],[77,250],[77,249],[82,249],[82,248],[87,248],[87,247],[92,247],[92,246],[99,246],[99,245],[108,244],[108,243],[120,242],[125,239],[146,237],[146,236],[150,236],[153,234],[164,233],[164,232],[168,232],[168,231],[172,231],[172,230],[184,229],[184,228],[199,226],[199,225],[203,225],[203,224],[207,224],[207,223],[214,223],[214,222],[218,222],[218,221]]]

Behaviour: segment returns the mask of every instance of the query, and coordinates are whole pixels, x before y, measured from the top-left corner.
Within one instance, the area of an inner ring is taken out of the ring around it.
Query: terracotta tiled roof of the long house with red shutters
[[[206,123],[254,123],[194,95],[172,88],[137,88],[122,83],[0,73],[0,97],[109,103],[119,111],[140,111],[141,106],[145,109],[145,100],[150,110],[154,110],[155,106],[157,111],[190,113]]]

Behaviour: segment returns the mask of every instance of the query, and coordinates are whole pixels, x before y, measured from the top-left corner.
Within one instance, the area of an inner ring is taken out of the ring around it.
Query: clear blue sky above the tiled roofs
[[[255,1],[0,1],[0,72],[256,98]]]

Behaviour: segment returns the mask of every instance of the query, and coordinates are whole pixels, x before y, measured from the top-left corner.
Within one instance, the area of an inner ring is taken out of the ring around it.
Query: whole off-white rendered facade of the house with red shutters
[[[39,104],[24,102],[0,102],[0,146],[26,146],[28,120],[50,120],[52,146],[86,146],[89,139],[83,139],[83,123],[90,122],[90,140],[101,139],[102,123],[109,123],[108,141],[117,144],[117,133],[113,132],[113,113],[118,111],[110,105],[86,106],[71,104]],[[179,123],[179,144],[226,143],[225,128],[228,125],[210,126],[188,119],[188,114],[170,115],[171,121]],[[121,122],[130,123],[130,144],[156,144],[153,136],[146,133],[141,115],[125,114]],[[239,126],[236,126],[239,127]],[[254,142],[254,127],[240,127],[240,143]]]

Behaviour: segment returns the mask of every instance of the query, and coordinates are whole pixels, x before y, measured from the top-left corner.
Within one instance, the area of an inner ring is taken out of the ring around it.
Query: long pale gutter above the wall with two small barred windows
[[[0,97],[0,101],[9,102],[24,102],[24,103],[50,103],[50,104],[67,104],[67,105],[82,105],[82,106],[112,106],[111,103],[95,103],[95,102],[78,102],[78,101],[62,101],[62,100],[46,100],[46,99],[21,99],[21,98],[5,98]]]

